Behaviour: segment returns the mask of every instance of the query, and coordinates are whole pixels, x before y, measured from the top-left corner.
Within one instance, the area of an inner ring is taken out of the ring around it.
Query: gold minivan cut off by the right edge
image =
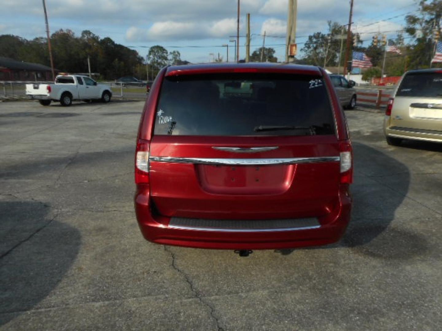
[[[403,139],[442,143],[442,69],[404,74],[389,99],[384,133],[389,145]]]

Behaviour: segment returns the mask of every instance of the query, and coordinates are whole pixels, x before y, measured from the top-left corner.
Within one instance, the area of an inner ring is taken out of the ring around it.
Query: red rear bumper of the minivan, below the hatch
[[[351,197],[341,192],[339,206],[319,227],[247,232],[210,229],[177,229],[169,227],[170,218],[154,216],[149,206],[149,188],[138,188],[135,195],[135,211],[141,233],[146,240],[194,248],[212,249],[277,249],[331,244],[343,236],[351,214]],[[239,221],[240,222],[240,221]]]

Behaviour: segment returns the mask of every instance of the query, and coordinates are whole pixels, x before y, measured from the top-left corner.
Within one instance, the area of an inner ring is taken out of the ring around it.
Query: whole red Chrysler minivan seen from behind
[[[141,116],[135,211],[145,239],[275,249],[338,241],[350,220],[352,148],[322,68],[164,68]]]

